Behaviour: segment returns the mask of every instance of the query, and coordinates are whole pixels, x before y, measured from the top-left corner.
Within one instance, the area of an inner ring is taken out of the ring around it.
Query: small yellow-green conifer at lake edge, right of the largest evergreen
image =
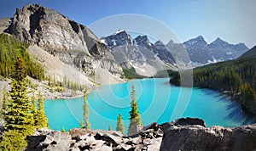
[[[38,128],[48,128],[48,119],[44,112],[44,98],[41,92],[38,94]]]

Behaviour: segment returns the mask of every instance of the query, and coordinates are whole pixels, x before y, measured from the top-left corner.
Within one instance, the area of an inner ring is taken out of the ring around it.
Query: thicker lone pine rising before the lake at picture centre
[[[135,134],[137,132],[137,125],[142,125],[142,120],[137,108],[136,91],[134,86],[131,86],[131,111],[130,114],[130,125],[128,128],[128,135]]]

